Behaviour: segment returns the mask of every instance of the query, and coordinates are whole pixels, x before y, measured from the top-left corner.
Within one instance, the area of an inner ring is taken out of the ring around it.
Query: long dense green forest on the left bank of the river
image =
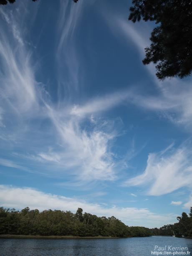
[[[61,210],[21,211],[0,208],[0,234],[40,236],[150,236],[149,228],[128,227],[114,216],[97,217],[83,213]]]

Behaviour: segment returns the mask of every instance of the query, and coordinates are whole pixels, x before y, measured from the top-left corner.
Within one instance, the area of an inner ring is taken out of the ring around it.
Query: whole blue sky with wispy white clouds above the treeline
[[[192,206],[192,79],[144,66],[131,1],[0,8],[0,204],[78,207],[129,226]]]

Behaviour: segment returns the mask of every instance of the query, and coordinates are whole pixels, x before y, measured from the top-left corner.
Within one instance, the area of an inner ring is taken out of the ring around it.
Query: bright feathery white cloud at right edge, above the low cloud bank
[[[145,171],[124,185],[147,185],[148,195],[164,195],[192,184],[192,151],[183,145],[169,152],[151,153]]]

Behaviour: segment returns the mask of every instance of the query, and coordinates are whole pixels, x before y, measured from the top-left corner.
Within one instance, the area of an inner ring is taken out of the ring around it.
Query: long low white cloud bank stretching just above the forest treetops
[[[77,200],[61,195],[43,193],[33,188],[15,188],[0,185],[1,205],[9,208],[22,209],[26,206],[39,210],[60,209],[76,212],[78,207],[85,212],[98,216],[109,217],[114,215],[129,226],[163,226],[165,223],[174,223],[176,215],[160,215],[152,213],[147,208],[117,207],[113,205],[106,207],[104,204],[88,203],[85,200]]]

